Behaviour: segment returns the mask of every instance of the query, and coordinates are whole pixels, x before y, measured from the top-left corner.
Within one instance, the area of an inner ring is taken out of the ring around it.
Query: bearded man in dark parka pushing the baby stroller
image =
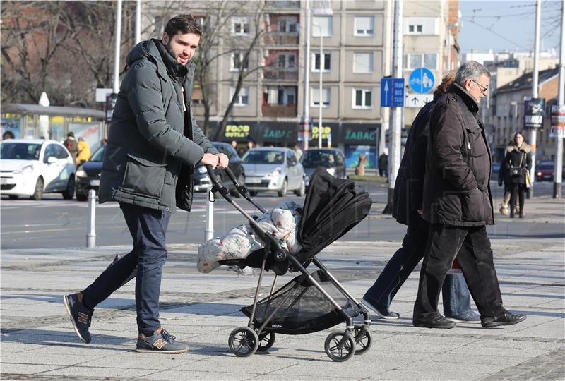
[[[90,342],[94,308],[136,271],[136,351],[184,353],[189,346],[161,327],[159,295],[171,214],[190,211],[198,163],[225,168],[191,111],[191,62],[202,29],[191,15],[170,19],[161,39],[139,42],[127,55],[100,177],[100,203],[119,202],[133,238],[130,253],[83,291],[63,297],[78,337]]]

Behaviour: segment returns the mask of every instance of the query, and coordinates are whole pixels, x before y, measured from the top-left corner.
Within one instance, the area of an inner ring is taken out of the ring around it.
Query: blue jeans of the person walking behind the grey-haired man
[[[410,219],[402,247],[396,250],[373,286],[367,290],[364,298],[381,310],[388,310],[394,296],[410,276],[417,264],[424,258],[429,226],[420,216]],[[451,275],[451,274],[449,274]],[[444,283],[444,313],[449,316],[451,311],[460,311],[457,315],[471,310],[469,290],[463,274],[453,274]],[[449,312],[449,313],[448,313]]]

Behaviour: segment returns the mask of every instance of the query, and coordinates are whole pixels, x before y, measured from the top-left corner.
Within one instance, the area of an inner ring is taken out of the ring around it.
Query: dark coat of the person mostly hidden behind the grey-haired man
[[[394,184],[393,217],[400,224],[409,225],[415,223],[415,219],[420,219],[417,210],[422,209],[429,118],[435,104],[436,97],[420,109],[408,131],[404,155]]]

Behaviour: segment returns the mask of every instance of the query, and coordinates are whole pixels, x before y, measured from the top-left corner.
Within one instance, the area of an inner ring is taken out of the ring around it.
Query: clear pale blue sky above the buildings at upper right
[[[521,52],[534,48],[535,1],[460,0],[463,28],[461,52],[487,52],[504,49]],[[541,49],[554,48],[559,54],[561,0],[542,1]]]

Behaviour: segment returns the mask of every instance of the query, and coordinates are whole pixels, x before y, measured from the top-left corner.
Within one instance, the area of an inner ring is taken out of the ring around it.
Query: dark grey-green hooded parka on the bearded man
[[[148,40],[131,49],[126,64],[102,164],[100,203],[190,210],[194,165],[204,152],[218,153],[192,114],[194,63],[186,68],[160,40]]]

